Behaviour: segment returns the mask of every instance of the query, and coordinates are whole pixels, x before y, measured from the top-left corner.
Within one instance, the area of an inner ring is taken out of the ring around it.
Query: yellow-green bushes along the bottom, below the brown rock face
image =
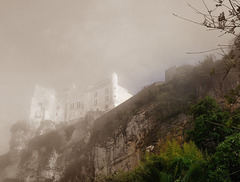
[[[146,154],[141,165],[130,172],[99,176],[97,182],[197,182],[204,177],[205,159],[193,142],[181,147],[169,142],[166,152]]]

